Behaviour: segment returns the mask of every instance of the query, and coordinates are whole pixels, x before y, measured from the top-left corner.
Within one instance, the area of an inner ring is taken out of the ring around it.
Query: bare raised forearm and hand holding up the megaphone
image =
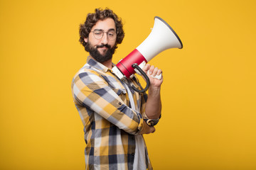
[[[149,86],[149,96],[146,101],[146,116],[149,119],[158,119],[161,115],[161,96],[160,96],[160,89],[161,84],[163,83],[163,77],[161,79],[155,79],[152,76],[156,76],[161,74],[161,69],[155,68],[154,66],[150,66],[150,64],[146,64],[143,68],[144,72],[149,70],[149,79],[150,79],[150,86]]]

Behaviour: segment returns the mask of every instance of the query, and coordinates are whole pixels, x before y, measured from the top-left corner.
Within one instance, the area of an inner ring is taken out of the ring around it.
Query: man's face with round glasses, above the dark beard
[[[94,31],[94,30],[103,30],[104,32],[114,30],[114,32],[116,32],[116,27],[115,27],[114,20],[112,18],[106,18],[103,21],[101,21],[101,20],[97,21],[95,26],[92,27],[91,31]],[[107,33],[104,33],[104,35],[101,39],[96,39],[94,37],[93,33],[90,32],[88,38],[85,38],[84,40],[85,40],[85,42],[90,42],[88,44],[90,44],[90,46],[93,47],[94,49],[97,49],[97,51],[102,56],[105,56],[106,53],[107,53],[107,50],[114,47],[115,44],[116,44],[115,39],[114,40],[109,40],[107,38]],[[106,47],[107,45],[109,45],[110,47]]]

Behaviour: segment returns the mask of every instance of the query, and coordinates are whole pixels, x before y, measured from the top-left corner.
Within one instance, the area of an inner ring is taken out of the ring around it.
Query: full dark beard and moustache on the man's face
[[[105,55],[101,55],[100,52],[97,50],[99,47],[107,47],[107,52]],[[114,51],[116,49],[116,45],[114,47],[111,47],[110,45],[97,45],[96,48],[92,47],[90,42],[87,42],[87,45],[85,46],[85,50],[90,53],[90,56],[92,56],[97,62],[106,62],[107,60],[111,60],[112,56],[114,54]]]

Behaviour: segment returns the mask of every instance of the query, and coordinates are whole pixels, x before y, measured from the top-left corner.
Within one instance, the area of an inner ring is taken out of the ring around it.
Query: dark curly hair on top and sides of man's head
[[[80,43],[86,47],[87,42],[85,42],[85,38],[88,38],[89,33],[93,26],[97,23],[97,21],[102,21],[106,18],[112,18],[114,20],[116,30],[117,30],[117,39],[116,39],[116,45],[115,48],[117,48],[117,44],[121,44],[122,40],[124,39],[124,30],[123,30],[123,24],[122,19],[119,18],[112,10],[109,8],[105,8],[103,10],[102,8],[95,8],[95,13],[88,13],[85,23],[80,24]]]

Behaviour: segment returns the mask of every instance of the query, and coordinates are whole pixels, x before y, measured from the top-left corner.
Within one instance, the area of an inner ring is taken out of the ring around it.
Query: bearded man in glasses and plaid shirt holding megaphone
[[[163,79],[150,77],[161,70],[146,64],[147,95],[132,89],[140,88],[136,77],[120,81],[112,73],[112,55],[123,38],[122,21],[108,8],[96,8],[80,25],[80,42],[90,56],[72,91],[84,125],[86,169],[152,169],[142,134],[154,132],[161,117]]]

